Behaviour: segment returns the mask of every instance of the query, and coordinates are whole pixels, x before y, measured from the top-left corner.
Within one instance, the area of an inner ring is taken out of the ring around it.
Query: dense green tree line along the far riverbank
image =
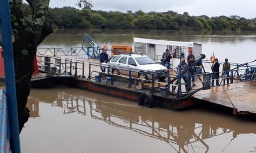
[[[24,4],[24,9],[29,12]],[[28,13],[29,14],[29,13]],[[74,7],[49,8],[48,20],[56,28],[85,29],[155,29],[155,30],[256,30],[256,18],[246,19],[239,16],[208,17],[190,16],[184,12],[173,11],[133,13],[95,11]]]

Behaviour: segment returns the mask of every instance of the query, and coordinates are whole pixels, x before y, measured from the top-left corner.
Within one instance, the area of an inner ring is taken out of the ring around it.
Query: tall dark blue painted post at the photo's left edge
[[[12,153],[20,153],[19,122],[16,100],[15,74],[13,64],[13,44],[9,0],[0,0],[0,17],[2,29],[2,47],[5,64],[5,80],[7,91],[7,108]]]

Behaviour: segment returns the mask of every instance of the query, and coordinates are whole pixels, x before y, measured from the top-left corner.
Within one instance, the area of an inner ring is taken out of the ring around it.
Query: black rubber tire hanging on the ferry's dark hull
[[[138,105],[152,108],[154,106],[153,96],[149,92],[141,93],[138,99]]]

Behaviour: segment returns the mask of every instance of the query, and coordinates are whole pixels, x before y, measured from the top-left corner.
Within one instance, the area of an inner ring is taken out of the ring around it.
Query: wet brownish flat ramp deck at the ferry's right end
[[[192,100],[234,108],[235,115],[256,114],[255,91],[256,81],[247,81],[201,90],[192,96]]]

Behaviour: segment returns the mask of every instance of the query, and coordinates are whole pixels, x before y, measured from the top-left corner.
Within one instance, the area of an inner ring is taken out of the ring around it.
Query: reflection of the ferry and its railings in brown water
[[[146,109],[118,101],[107,102],[108,98],[92,94],[90,97],[66,92],[52,92],[52,96],[30,98],[27,104],[31,117],[40,117],[39,103],[52,103],[53,107],[63,108],[63,114],[77,113],[91,119],[104,121],[111,126],[132,130],[138,134],[166,142],[179,152],[208,152],[211,147],[208,139],[228,137],[225,150],[238,134],[256,134],[252,126],[241,125],[214,115],[188,116],[181,112],[163,109]],[[229,134],[230,133],[230,134]],[[228,134],[228,135],[227,135]]]

